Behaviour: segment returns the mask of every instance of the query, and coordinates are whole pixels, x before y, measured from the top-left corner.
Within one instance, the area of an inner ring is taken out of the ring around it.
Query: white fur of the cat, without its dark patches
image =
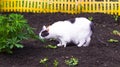
[[[69,42],[73,42],[77,44],[78,47],[88,46],[91,40],[91,21],[84,17],[75,18],[75,22],[71,23],[69,21],[58,21],[54,24],[50,25],[48,28],[43,26],[44,31],[49,29],[49,35],[46,37],[41,36],[41,32],[39,33],[40,38],[51,39],[54,38],[59,41],[57,46],[64,46]]]

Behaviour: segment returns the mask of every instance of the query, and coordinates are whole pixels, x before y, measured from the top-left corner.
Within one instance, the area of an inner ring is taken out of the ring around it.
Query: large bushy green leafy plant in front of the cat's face
[[[0,15],[0,52],[12,53],[13,48],[23,48],[22,40],[35,34],[21,14]]]

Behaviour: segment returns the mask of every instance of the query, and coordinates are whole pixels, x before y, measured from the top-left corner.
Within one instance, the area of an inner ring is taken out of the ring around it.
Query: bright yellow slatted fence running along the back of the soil
[[[0,0],[0,12],[100,12],[120,15],[120,0]]]

